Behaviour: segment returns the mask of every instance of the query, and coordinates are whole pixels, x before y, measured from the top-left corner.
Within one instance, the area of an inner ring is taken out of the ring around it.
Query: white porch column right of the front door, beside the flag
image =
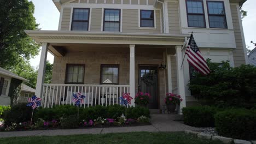
[[[184,73],[183,73],[183,67],[182,60],[183,60],[183,52],[181,51],[182,46],[176,46],[176,55],[177,55],[177,80],[178,80],[178,94],[181,95],[181,98],[183,101],[181,102],[181,105],[179,106],[179,114],[182,113],[182,108],[186,107],[186,95],[185,95],[185,83],[184,83]]]

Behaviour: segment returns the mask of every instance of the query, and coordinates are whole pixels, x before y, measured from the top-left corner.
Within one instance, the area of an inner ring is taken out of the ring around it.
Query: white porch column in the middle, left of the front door
[[[132,106],[135,106],[135,45],[130,45],[130,94]]]

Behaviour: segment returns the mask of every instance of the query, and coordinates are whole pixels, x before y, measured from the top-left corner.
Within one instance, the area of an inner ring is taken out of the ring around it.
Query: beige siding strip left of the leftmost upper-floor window
[[[69,23],[71,17],[71,8],[63,8],[61,31],[69,31]]]

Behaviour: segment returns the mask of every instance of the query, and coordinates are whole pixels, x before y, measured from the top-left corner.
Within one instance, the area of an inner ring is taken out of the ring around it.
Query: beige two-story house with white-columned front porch
[[[187,87],[184,45],[191,32],[203,57],[212,62],[247,63],[240,0],[53,0],[60,11],[58,31],[26,31],[42,45],[36,95],[43,105],[119,103],[149,92],[150,109],[162,109],[167,92],[181,95],[180,108],[194,103]],[[53,80],[44,82],[47,52],[53,53]],[[134,100],[132,100],[132,105]]]

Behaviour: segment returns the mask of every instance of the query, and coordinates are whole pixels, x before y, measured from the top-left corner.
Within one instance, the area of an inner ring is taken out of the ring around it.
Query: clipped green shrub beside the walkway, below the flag
[[[184,124],[193,127],[214,127],[214,115],[216,107],[191,106],[182,109]]]

